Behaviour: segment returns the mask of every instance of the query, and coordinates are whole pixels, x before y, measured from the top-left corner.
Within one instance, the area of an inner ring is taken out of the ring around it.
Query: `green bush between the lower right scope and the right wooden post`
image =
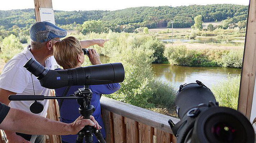
[[[220,106],[237,109],[240,79],[240,75],[233,78],[228,76],[227,80],[223,80],[212,86],[212,92],[216,100],[220,103]]]

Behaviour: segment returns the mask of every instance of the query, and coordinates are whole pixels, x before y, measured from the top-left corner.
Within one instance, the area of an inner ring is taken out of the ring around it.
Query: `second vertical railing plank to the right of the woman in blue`
[[[126,133],[124,128],[124,117],[113,113],[115,143],[125,143]]]

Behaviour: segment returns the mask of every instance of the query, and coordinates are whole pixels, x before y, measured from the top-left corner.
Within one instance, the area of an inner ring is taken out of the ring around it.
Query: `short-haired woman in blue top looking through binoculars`
[[[107,40],[106,40],[107,41]],[[83,47],[85,48],[85,47]],[[53,46],[54,58],[57,63],[63,67],[63,69],[80,67],[84,62],[84,54],[81,47],[81,43],[75,37],[68,37],[61,41],[58,41]],[[88,49],[90,55],[88,58],[92,65],[101,64],[100,56],[94,49]],[[66,96],[74,94],[78,88],[83,86],[71,86],[55,89],[56,96]],[[119,83],[105,84],[105,85],[90,85],[89,88],[92,91],[91,104],[95,107],[95,112],[92,114],[95,120],[102,127],[101,132],[103,137],[106,137],[104,124],[101,118],[100,109],[100,94],[111,94],[116,92],[120,88]],[[66,91],[67,90],[67,91]],[[66,94],[65,94],[66,93]],[[65,94],[65,95],[64,95]],[[64,123],[72,123],[80,116],[78,113],[79,105],[76,100],[58,100],[60,106],[60,121]],[[61,105],[60,105],[61,104]],[[63,143],[73,143],[76,140],[77,135],[62,135],[61,140]],[[93,137],[93,143],[98,140]]]

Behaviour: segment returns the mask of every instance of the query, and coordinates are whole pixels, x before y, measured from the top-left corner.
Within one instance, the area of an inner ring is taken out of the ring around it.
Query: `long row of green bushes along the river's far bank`
[[[195,45],[187,43],[167,45],[164,56],[171,65],[242,68],[243,48],[241,47]]]

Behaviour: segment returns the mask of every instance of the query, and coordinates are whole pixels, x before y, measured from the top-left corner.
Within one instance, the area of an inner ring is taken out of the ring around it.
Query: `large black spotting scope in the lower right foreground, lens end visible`
[[[237,110],[219,107],[202,82],[180,85],[174,102],[180,118],[168,123],[177,143],[254,143],[249,120]]]

